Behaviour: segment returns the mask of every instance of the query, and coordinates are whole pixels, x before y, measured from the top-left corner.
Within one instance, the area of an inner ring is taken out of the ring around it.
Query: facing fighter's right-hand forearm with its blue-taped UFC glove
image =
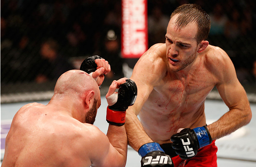
[[[208,126],[194,129],[185,128],[172,135],[172,147],[177,150],[176,153],[181,159],[193,158],[200,148],[211,144],[212,140],[226,136],[249,123],[251,119],[250,110],[242,110],[238,107],[229,109],[218,121]]]

